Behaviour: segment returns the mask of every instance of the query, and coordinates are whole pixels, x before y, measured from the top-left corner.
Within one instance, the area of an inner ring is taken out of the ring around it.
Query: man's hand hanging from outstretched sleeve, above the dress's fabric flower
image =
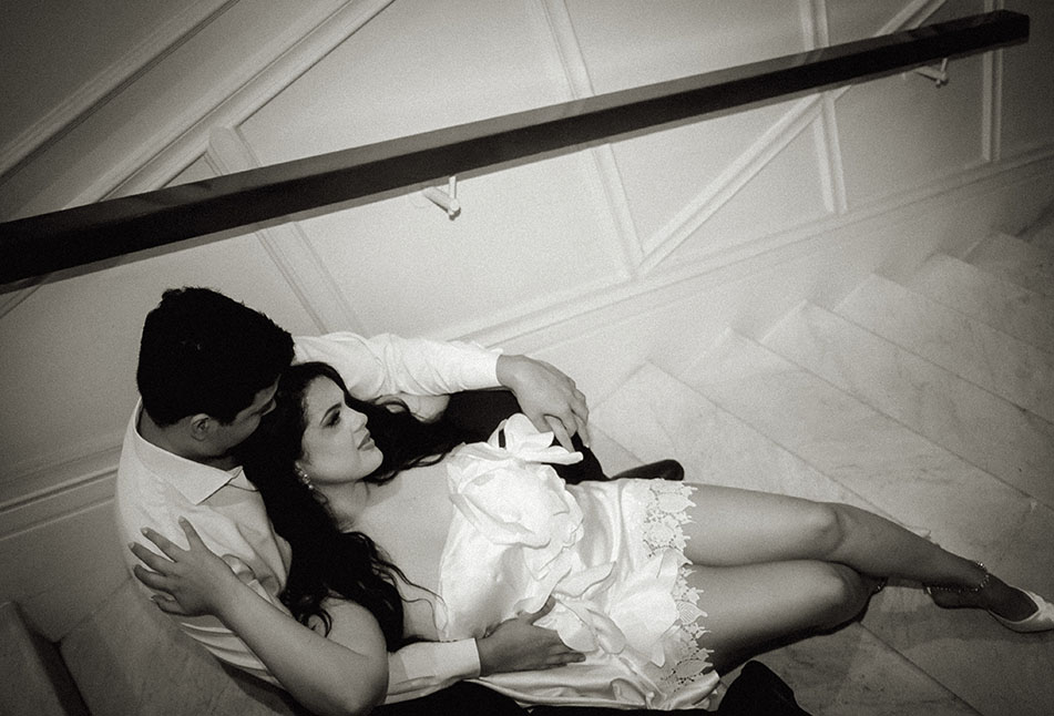
[[[542,360],[526,356],[499,356],[498,381],[512,391],[534,427],[551,430],[556,440],[570,451],[571,436],[577,433],[582,443],[590,444],[590,408],[574,380]]]

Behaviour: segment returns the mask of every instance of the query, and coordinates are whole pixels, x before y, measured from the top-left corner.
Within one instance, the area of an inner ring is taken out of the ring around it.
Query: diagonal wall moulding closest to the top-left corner
[[[0,181],[64,132],[83,122],[96,108],[145,74],[187,38],[225,12],[238,0],[197,0],[158,25],[127,54],[92,78],[39,122],[0,149]]]

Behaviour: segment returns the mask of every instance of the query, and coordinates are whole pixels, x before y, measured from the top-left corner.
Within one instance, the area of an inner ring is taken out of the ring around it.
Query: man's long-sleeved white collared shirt
[[[296,362],[332,365],[356,398],[398,396],[426,419],[446,405],[439,396],[499,385],[500,352],[472,344],[340,333],[298,337],[295,345]],[[136,428],[141,411],[142,403],[129,422],[117,468],[122,539],[143,542],[142,528],[152,528],[185,548],[178,519],[186,518],[244,583],[288,613],[278,594],[289,570],[289,545],[275,534],[263,499],[242,469],[218,470],[147,442]],[[131,552],[125,560],[130,569],[137,562]],[[277,684],[248,646],[215,617],[176,618],[217,658]],[[387,703],[423,696],[479,672],[473,640],[411,644],[389,654]]]

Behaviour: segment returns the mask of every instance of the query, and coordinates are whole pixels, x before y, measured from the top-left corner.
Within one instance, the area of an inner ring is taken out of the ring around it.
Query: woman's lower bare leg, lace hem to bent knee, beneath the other
[[[718,674],[789,638],[840,626],[867,605],[876,581],[828,562],[689,566],[699,590],[699,645]]]

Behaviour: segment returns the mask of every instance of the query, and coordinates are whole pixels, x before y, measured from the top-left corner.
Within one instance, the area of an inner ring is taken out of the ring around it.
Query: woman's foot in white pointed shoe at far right
[[[944,608],[986,610],[1003,626],[1019,632],[1054,628],[1054,605],[1032,592],[1020,590],[978,565],[980,576],[972,585],[928,586],[933,603]]]

